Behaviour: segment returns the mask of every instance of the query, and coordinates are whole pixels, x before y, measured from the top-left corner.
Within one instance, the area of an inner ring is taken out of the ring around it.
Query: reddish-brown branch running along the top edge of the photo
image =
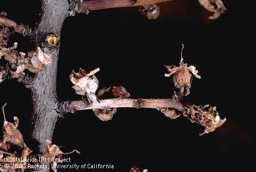
[[[157,4],[161,2],[167,2],[172,0],[93,0],[93,1],[83,1],[75,0],[79,6],[78,12],[88,13],[92,10],[101,10],[109,8],[120,8],[120,7],[130,7],[130,6],[142,6],[149,4]],[[134,2],[134,3],[132,3]]]

